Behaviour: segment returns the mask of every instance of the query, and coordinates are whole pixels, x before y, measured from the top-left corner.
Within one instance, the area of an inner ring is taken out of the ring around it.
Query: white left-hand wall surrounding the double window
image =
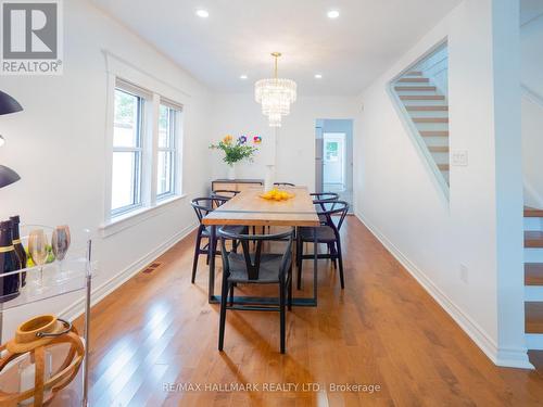
[[[24,111],[0,117],[7,144],[0,163],[22,180],[0,190],[0,218],[20,214],[24,222],[97,229],[103,221],[106,72],[103,49],[190,94],[185,106],[185,200],[130,229],[98,238],[100,275],[94,287],[134,271],[179,239],[195,221],[189,199],[210,179],[207,89],[139,37],[85,0],[64,1],[64,74],[59,77],[1,77],[0,89]],[[140,263],[138,263],[140,262]],[[104,292],[104,288],[101,291]],[[39,311],[58,313],[76,295],[10,311],[9,326]],[[11,335],[11,328],[5,335]]]

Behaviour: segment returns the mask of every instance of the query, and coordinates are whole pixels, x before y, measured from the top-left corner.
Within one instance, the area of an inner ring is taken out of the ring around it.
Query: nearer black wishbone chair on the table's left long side
[[[213,252],[215,254],[219,254],[216,251],[217,247],[217,241],[218,238],[215,238],[214,242],[210,242],[210,230],[205,227],[205,225],[202,224],[202,219],[207,215],[210,212],[213,212],[216,207],[223,205],[228,199],[226,198],[219,198],[219,196],[211,196],[211,198],[195,198],[191,201],[192,208],[194,209],[198,221],[200,226],[198,227],[197,231],[197,242],[194,246],[194,259],[192,262],[192,277],[191,277],[191,282],[194,283],[194,279],[197,278],[197,269],[198,269],[198,257],[200,257],[201,254],[205,254],[206,257],[206,264],[210,264],[210,249],[213,246]],[[243,231],[247,230],[247,227],[244,226],[229,226],[229,230],[243,233]],[[202,239],[207,239],[207,244],[205,244],[202,247]],[[237,242],[232,242],[232,247],[236,250],[237,247]]]

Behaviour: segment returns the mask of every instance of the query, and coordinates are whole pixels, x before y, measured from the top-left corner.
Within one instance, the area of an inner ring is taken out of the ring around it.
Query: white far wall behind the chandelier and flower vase
[[[303,97],[299,96],[291,106],[291,114],[282,119],[277,130],[277,155],[275,129],[268,126],[267,117],[254,101],[253,94],[220,94],[215,98],[213,138],[218,140],[227,133],[261,135],[263,144],[254,165],[241,164],[237,168],[239,178],[264,178],[265,165],[274,164],[277,157],[276,180],[293,182],[314,189],[315,186],[315,120],[317,118],[354,118],[361,111],[356,98]],[[225,177],[226,165],[220,154],[213,158],[213,176]]]

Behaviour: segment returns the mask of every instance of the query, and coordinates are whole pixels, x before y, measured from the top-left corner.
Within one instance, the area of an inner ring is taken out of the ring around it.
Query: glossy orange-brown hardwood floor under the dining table
[[[356,218],[348,218],[343,236],[346,288],[320,262],[318,307],[288,314],[286,355],[279,354],[279,316],[262,311],[228,311],[225,352],[217,352],[218,306],[207,304],[205,258],[191,284],[193,236],[178,243],[157,259],[162,267],[93,308],[92,405],[541,405],[543,379],[535,371],[494,366]],[[307,262],[307,290],[311,271]],[[202,391],[165,391],[167,383]],[[324,390],[203,387],[231,383]],[[380,391],[332,392],[330,383]]]

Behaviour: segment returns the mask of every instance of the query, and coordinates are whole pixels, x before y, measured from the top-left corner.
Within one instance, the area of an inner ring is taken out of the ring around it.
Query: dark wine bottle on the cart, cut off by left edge
[[[20,269],[21,262],[13,246],[12,222],[11,220],[0,221],[0,274]],[[0,276],[0,303],[15,298],[20,294],[18,288],[18,275]]]

